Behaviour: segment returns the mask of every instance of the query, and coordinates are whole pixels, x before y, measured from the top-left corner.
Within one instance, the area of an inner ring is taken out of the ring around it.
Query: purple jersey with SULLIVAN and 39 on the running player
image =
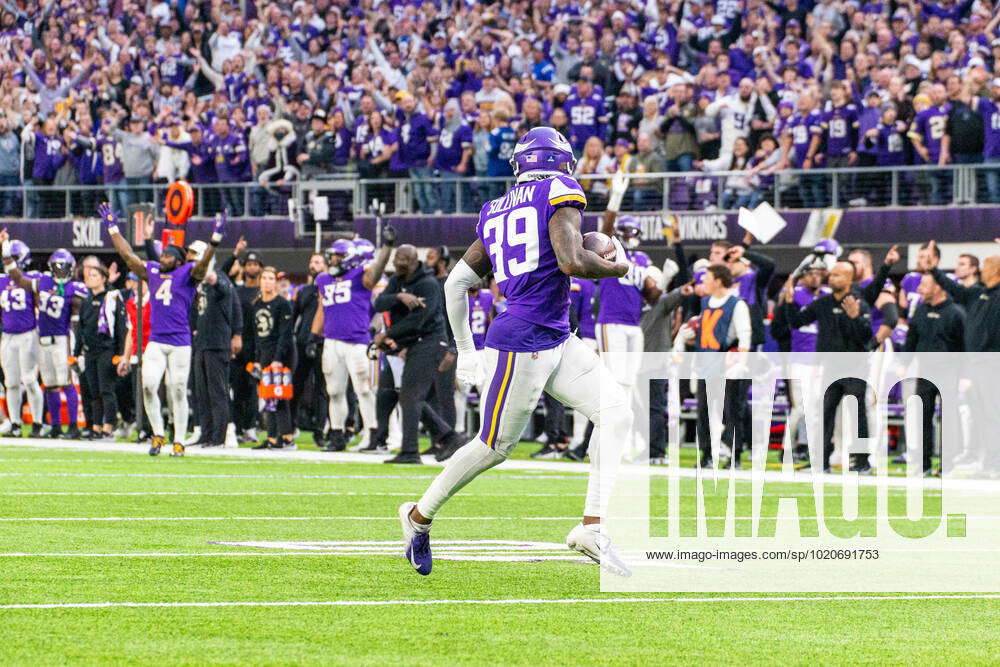
[[[559,270],[549,219],[560,206],[586,205],[580,184],[569,176],[515,185],[483,205],[476,233],[507,299],[507,310],[486,333],[488,346],[537,352],[569,336],[569,276]]]

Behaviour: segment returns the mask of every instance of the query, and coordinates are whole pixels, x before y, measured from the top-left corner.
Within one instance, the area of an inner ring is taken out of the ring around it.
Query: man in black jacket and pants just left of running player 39
[[[448,351],[444,290],[434,272],[417,259],[417,249],[412,245],[396,249],[393,265],[396,275],[375,299],[375,310],[388,311],[392,322],[375,336],[375,345],[390,353],[404,352],[406,356],[399,387],[403,442],[400,453],[386,463],[420,463],[417,432],[421,416],[433,442],[444,442],[451,447],[458,438],[426,400],[438,365]]]

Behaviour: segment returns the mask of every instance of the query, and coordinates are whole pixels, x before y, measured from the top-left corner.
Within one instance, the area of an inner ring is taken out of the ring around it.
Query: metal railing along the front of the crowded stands
[[[627,176],[630,185],[623,211],[728,211],[759,201],[779,209],[1000,205],[1000,163],[784,170],[763,177],[729,171]],[[610,177],[577,178],[587,190],[590,210],[603,210]],[[392,215],[472,215],[482,202],[502,194],[513,182],[510,177],[360,179],[340,173],[280,187],[252,182],[192,184],[193,217],[211,217],[227,208],[233,218],[290,218],[308,227],[313,213],[318,213],[317,196],[326,197],[327,220],[349,221],[365,215],[376,200]],[[0,217],[90,217],[101,201],[151,202],[160,210],[167,187],[166,183],[4,186],[0,187]],[[421,203],[427,210],[421,210]]]

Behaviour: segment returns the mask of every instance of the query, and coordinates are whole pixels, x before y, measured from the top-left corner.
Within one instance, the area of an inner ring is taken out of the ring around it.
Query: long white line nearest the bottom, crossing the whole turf
[[[828,596],[785,596],[785,597],[724,597],[724,598],[554,598],[554,599],[507,599],[507,600],[290,600],[283,602],[239,601],[239,602],[54,602],[3,604],[0,609],[107,609],[114,607],[394,607],[394,606],[434,606],[434,605],[543,605],[543,604],[622,604],[622,603],[682,603],[718,604],[731,602],[875,602],[909,600],[996,600],[1000,595],[828,595]]]

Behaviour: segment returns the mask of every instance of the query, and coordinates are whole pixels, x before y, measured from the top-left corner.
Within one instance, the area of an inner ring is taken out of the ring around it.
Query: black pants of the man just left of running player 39
[[[399,388],[399,404],[403,410],[403,453],[419,451],[417,438],[421,417],[433,442],[439,442],[453,430],[427,402],[427,393],[434,382],[438,364],[447,351],[447,344],[435,339],[418,341],[406,351]]]

